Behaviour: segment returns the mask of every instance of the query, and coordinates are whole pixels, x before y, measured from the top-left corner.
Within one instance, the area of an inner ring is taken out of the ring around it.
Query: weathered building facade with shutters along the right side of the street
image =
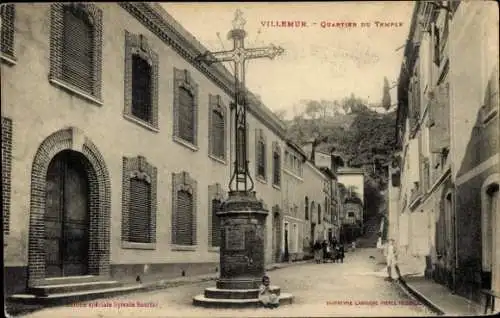
[[[429,279],[476,301],[500,291],[497,33],[493,3],[417,3],[398,86],[389,221]]]

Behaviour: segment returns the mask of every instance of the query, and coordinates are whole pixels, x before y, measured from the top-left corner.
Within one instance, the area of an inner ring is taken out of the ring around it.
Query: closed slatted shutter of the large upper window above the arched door
[[[84,13],[65,7],[62,50],[62,78],[93,93],[93,28]]]

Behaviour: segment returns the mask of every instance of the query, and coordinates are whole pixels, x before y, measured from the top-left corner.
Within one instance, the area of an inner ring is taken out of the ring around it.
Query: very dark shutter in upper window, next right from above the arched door
[[[132,115],[151,122],[151,65],[137,54],[132,56]]]

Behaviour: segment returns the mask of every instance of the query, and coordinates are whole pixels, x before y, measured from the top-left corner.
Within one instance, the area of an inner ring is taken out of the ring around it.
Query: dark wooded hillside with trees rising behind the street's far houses
[[[364,202],[367,215],[375,215],[387,187],[386,164],[393,153],[395,112],[379,113],[377,106],[351,94],[340,101],[303,101],[304,112],[287,122],[288,137],[299,145],[327,137],[318,150],[335,148],[344,162],[365,171]],[[379,108],[380,109],[380,108]],[[346,189],[347,190],[347,189]]]

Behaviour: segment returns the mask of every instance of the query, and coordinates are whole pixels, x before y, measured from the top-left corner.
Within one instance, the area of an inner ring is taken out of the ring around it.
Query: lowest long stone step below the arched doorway
[[[23,304],[64,305],[78,301],[117,296],[141,289],[143,289],[141,284],[134,284],[130,286],[63,292],[49,295],[15,294],[10,296],[8,300],[14,303]]]

